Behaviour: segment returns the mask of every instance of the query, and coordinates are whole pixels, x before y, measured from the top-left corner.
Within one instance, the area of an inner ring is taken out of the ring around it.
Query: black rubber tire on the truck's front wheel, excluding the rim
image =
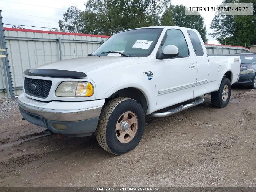
[[[138,128],[133,139],[128,143],[121,143],[116,135],[116,123],[125,112],[132,112],[138,120]],[[124,154],[134,149],[141,140],[145,127],[145,113],[142,106],[135,100],[119,97],[109,101],[102,109],[96,129],[96,139],[99,145],[109,153]]]

